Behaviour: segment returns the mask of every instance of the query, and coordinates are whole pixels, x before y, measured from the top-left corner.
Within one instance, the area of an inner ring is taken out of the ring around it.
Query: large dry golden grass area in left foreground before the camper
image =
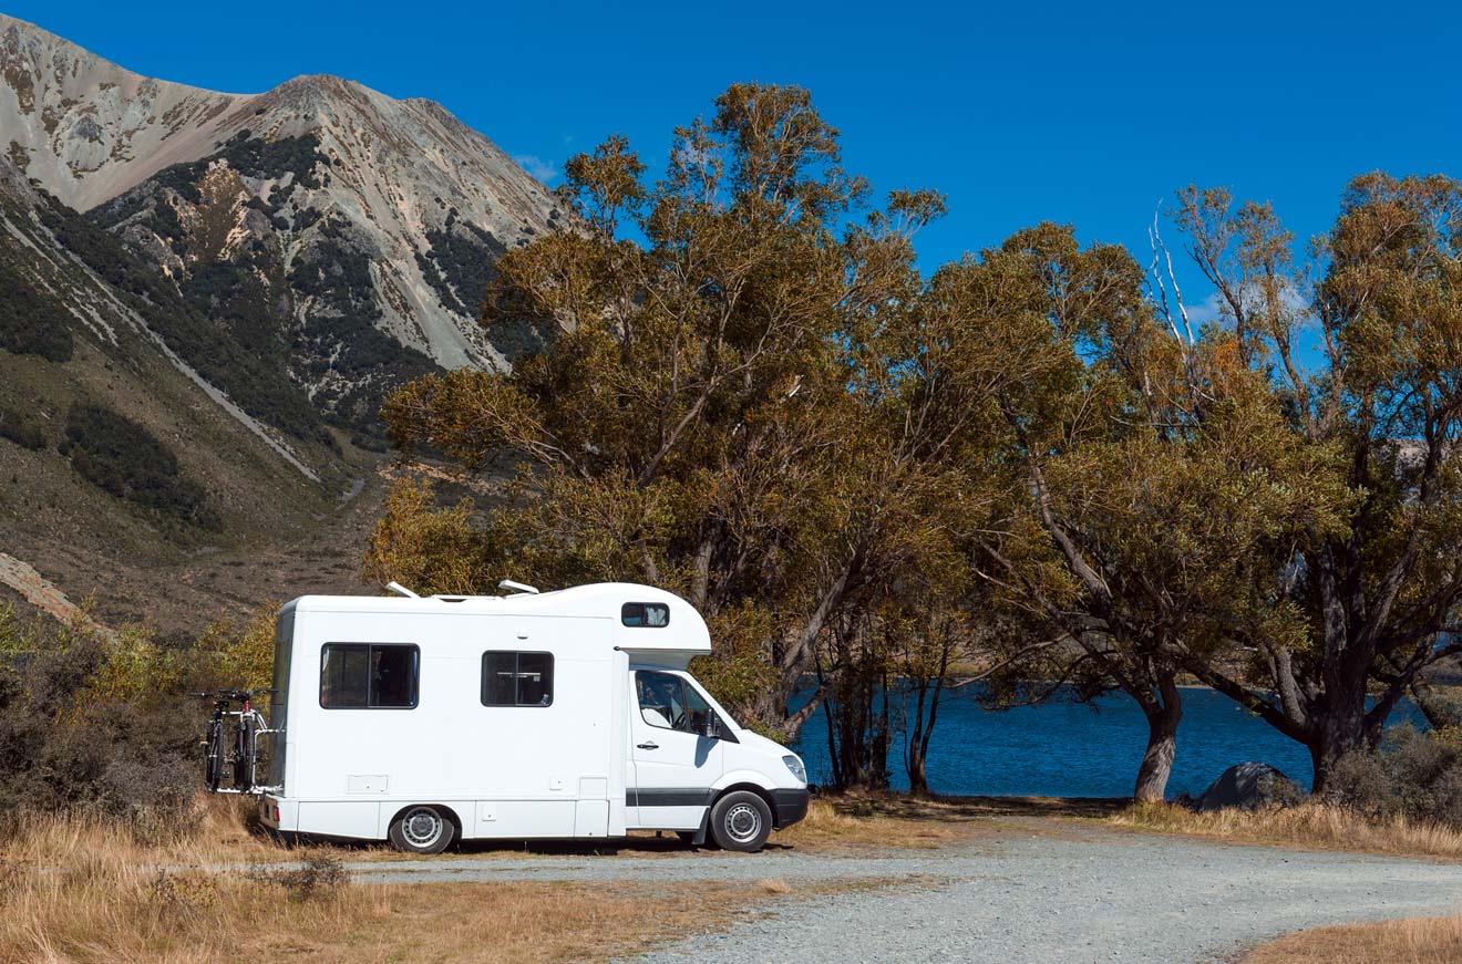
[[[230,814],[221,831],[231,827]],[[16,828],[12,828],[16,830]],[[635,954],[781,900],[785,881],[352,885],[330,850],[307,891],[289,875],[200,869],[282,856],[268,841],[136,843],[83,819],[35,819],[0,852],[0,961],[567,961]],[[200,837],[199,840],[203,840]],[[194,862],[189,869],[156,869]],[[807,887],[813,895],[836,887]]]

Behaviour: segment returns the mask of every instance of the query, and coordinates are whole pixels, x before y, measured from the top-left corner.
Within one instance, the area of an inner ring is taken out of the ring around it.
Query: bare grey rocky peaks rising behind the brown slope
[[[6,16],[0,80],[4,156],[339,424],[368,426],[404,378],[525,348],[488,340],[477,305],[554,197],[440,105],[327,76],[202,91]]]

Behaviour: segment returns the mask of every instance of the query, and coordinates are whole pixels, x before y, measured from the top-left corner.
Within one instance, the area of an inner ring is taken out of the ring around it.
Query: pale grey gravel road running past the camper
[[[1462,910],[1462,866],[1044,819],[927,850],[351,863],[361,881],[906,881],[787,900],[645,961],[1213,961],[1289,930]],[[775,837],[773,837],[775,840]]]

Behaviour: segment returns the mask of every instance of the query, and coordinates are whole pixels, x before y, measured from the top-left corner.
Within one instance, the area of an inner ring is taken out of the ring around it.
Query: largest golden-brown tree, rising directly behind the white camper
[[[623,137],[569,161],[575,223],[507,253],[482,308],[537,327],[541,353],[389,400],[404,448],[512,483],[450,516],[404,492],[370,568],[458,592],[488,573],[665,586],[711,622],[718,695],[791,729],[829,621],[939,540],[939,486],[883,412],[871,346],[918,292],[909,238],[940,200],[899,193],[854,223],[867,187],[806,91],[737,85],[715,107],[654,183]]]

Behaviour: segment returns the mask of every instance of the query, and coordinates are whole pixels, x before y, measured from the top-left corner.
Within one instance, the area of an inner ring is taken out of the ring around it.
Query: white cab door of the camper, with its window
[[[633,786],[629,819],[654,830],[696,830],[721,779],[721,741],[702,736],[711,707],[675,673],[635,672],[630,698]]]

